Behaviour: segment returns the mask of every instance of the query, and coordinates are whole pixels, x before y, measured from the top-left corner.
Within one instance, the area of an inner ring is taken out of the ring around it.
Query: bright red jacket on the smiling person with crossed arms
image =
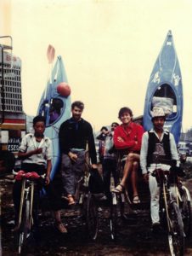
[[[126,127],[119,125],[114,131],[114,145],[116,149],[127,148],[128,151],[140,151],[143,134],[144,128],[141,125],[135,124],[133,122],[131,122]],[[119,142],[117,140],[118,137],[121,137],[123,142]]]

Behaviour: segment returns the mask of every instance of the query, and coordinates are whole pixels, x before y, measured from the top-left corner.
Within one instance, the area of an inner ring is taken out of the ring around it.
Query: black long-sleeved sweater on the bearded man
[[[92,164],[96,164],[97,157],[92,126],[84,119],[76,122],[72,118],[60,125],[59,146],[62,153],[68,154],[71,148],[86,149],[87,143]]]

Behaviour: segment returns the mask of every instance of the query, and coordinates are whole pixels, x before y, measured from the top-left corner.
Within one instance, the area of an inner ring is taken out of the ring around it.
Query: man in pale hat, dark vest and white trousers
[[[154,108],[152,122],[154,128],[144,132],[140,153],[140,166],[144,180],[150,185],[150,216],[153,230],[160,227],[159,199],[160,189],[151,173],[155,169],[169,171],[171,161],[177,163],[178,151],[172,133],[163,129],[166,114],[162,108]],[[158,157],[158,163],[156,161]]]

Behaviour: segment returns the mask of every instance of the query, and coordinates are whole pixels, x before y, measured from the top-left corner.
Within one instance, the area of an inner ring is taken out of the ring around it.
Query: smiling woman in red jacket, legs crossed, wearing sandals
[[[114,144],[116,149],[126,149],[127,159],[121,183],[112,191],[121,193],[125,188],[127,177],[130,175],[133,186],[133,204],[138,204],[140,200],[137,188],[137,172],[144,129],[141,125],[133,123],[133,112],[130,108],[121,108],[119,111],[119,119],[122,124],[116,127],[114,132]]]

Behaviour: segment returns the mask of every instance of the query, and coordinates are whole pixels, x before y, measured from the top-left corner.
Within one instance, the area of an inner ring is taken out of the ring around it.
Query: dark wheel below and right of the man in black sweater
[[[88,193],[87,200],[86,228],[88,231],[88,237],[92,240],[96,240],[99,229],[99,214],[95,199],[90,192]]]

